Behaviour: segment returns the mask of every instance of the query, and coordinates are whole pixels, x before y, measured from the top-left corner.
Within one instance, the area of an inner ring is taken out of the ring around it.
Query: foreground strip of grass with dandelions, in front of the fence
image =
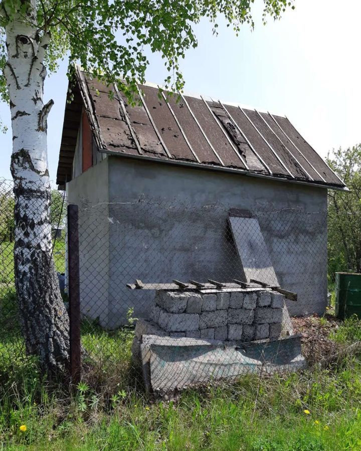
[[[332,370],[251,375],[188,390],[176,404],[125,388],[106,403],[85,383],[69,397],[28,374],[0,400],[0,442],[34,450],[361,449],[360,371],[353,357]]]

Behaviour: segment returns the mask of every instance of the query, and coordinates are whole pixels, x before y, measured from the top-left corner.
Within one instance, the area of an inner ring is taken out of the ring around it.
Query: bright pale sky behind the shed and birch
[[[195,27],[197,49],[181,62],[185,90],[224,102],[238,102],[286,115],[322,156],[332,148],[361,142],[361,76],[357,0],[295,0],[296,9],[280,21],[261,23],[262,1],[256,0],[255,30],[247,25],[238,37],[220,19],[219,35],[206,20]],[[168,75],[157,54],[147,53],[149,82]],[[45,97],[55,105],[48,119],[48,155],[55,181],[68,81],[67,62],[47,78]],[[12,137],[9,106],[0,103],[0,177],[10,178]],[[54,182],[55,186],[55,182]]]

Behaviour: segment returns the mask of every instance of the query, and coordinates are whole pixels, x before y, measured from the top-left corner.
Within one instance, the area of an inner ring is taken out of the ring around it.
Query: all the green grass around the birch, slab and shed
[[[4,261],[12,247],[1,246]],[[54,249],[60,272],[63,249]],[[47,382],[37,359],[25,356],[13,276],[1,262],[0,274],[0,355],[7,357],[0,359],[0,449],[361,450],[360,355],[327,369],[248,375],[231,386],[186,390],[176,403],[163,402],[144,393],[132,367],[132,328],[109,332],[84,321],[83,379],[71,390]],[[359,321],[347,319],[331,338],[361,340]]]

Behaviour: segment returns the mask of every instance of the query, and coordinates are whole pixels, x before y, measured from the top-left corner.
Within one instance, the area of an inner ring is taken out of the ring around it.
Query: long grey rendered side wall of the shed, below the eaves
[[[108,326],[124,322],[129,307],[146,317],[154,293],[126,289],[135,279],[242,277],[227,220],[235,207],[258,217],[281,286],[298,294],[291,314],[324,312],[326,189],[115,156],[108,162]]]

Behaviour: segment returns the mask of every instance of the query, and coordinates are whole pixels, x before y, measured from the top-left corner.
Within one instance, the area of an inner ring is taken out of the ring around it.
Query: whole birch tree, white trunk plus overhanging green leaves
[[[0,97],[9,102],[13,132],[15,285],[27,353],[40,356],[48,374],[66,373],[70,338],[52,261],[47,118],[54,102],[43,98],[47,72],[68,57],[69,76],[74,63],[80,64],[107,84],[117,82],[134,101],[149,48],[164,59],[165,86],[182,91],[179,60],[197,46],[194,25],[206,17],[217,33],[223,15],[237,34],[244,23],[253,27],[253,2],[0,0]],[[293,0],[263,0],[263,5],[265,22],[293,8]]]

